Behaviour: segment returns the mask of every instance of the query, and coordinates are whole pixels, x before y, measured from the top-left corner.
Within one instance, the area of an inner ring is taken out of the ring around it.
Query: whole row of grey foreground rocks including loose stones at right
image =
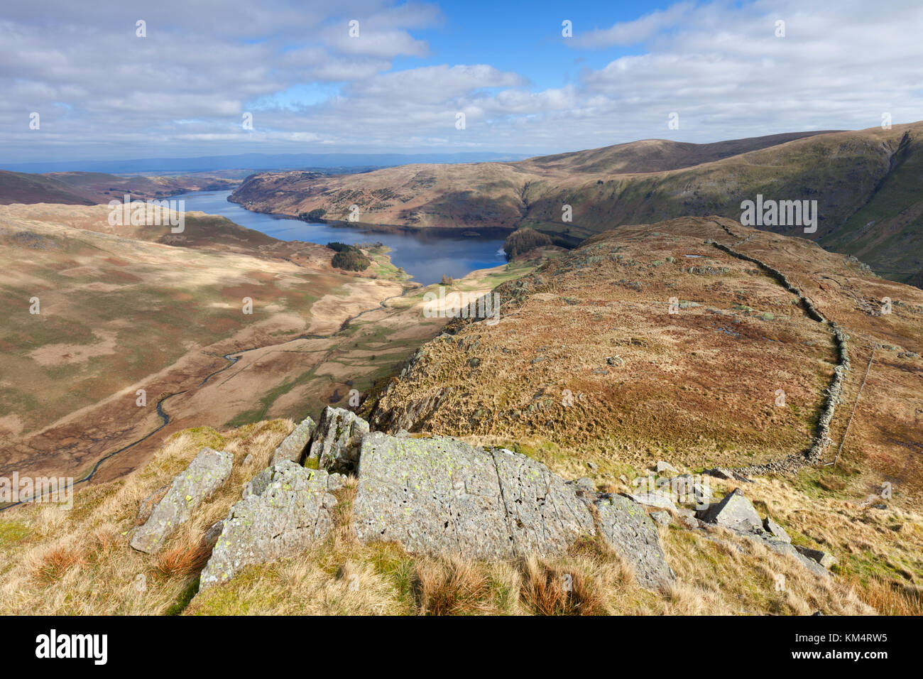
[[[412,554],[461,554],[484,561],[552,558],[578,540],[599,540],[631,566],[642,587],[652,589],[675,579],[656,523],[670,526],[677,520],[679,527],[708,540],[726,541],[723,530],[756,540],[817,576],[827,576],[835,564],[830,554],[792,545],[785,528],[761,518],[739,489],[708,503],[707,481],[664,462],[656,469],[677,476],[658,479],[659,490],[600,493],[591,479],[565,481],[544,464],[505,448],[367,427],[353,412],[330,407],[317,426],[306,418],[296,427],[270,466],[246,483],[227,517],[210,528],[211,554],[199,588],[221,585],[247,565],[324,549],[322,541],[335,528],[346,528],[366,544],[394,542]],[[336,471],[345,460],[357,463],[354,486]],[[318,462],[327,468],[314,468]],[[132,537],[132,546],[155,551],[222,485],[232,465],[230,454],[202,449],[173,484],[142,502],[150,518]],[[354,497],[341,492],[347,485],[355,488]],[[699,492],[690,490],[694,485]],[[686,491],[675,493],[680,487]],[[661,495],[677,503],[653,502]],[[698,511],[677,506],[689,503]]]

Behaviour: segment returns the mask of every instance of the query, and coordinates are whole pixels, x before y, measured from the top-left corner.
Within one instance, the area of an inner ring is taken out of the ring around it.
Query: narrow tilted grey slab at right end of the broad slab
[[[657,527],[643,507],[611,494],[600,496],[595,507],[603,539],[634,566],[641,586],[660,588],[674,579],[660,547]]]

